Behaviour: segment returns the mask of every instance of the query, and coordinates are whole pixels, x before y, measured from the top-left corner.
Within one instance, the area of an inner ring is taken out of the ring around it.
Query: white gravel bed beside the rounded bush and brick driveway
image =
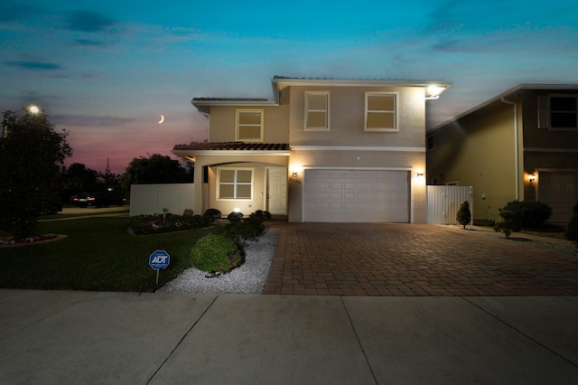
[[[267,228],[245,245],[245,263],[227,274],[208,278],[205,271],[187,268],[157,293],[261,294],[275,253],[279,229]]]

